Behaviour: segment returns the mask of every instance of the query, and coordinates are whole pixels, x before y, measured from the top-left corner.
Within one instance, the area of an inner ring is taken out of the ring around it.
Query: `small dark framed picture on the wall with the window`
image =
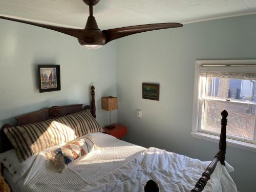
[[[159,101],[159,84],[142,83],[142,98]]]

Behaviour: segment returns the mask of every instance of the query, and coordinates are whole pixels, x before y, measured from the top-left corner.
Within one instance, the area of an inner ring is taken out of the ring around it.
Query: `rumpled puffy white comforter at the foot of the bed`
[[[208,164],[151,147],[79,191],[144,191],[150,179],[158,183],[160,191],[190,191]],[[218,163],[203,191],[235,192],[237,187],[225,166]]]

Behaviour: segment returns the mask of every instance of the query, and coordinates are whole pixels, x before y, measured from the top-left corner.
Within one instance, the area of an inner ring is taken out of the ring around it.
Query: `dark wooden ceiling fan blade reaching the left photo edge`
[[[47,25],[47,24],[29,22],[27,20],[11,18],[11,17],[1,16],[1,15],[0,15],[0,18],[7,19],[7,20],[13,20],[14,22],[29,24],[29,25],[33,25],[33,26],[46,28],[46,29],[51,29],[51,30],[54,30],[54,31],[65,33],[67,35],[71,35],[71,36],[76,37],[76,38],[82,38],[82,34],[83,34],[83,29],[72,29],[72,28],[67,28],[67,27],[51,26],[51,25]]]

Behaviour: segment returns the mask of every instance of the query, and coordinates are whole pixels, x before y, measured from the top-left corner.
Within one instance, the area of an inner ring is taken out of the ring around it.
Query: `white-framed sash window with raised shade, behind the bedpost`
[[[228,112],[227,138],[256,151],[256,60],[197,61],[192,135],[218,138]]]

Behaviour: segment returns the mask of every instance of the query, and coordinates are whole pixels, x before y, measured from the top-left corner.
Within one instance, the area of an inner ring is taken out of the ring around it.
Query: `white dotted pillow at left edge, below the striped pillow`
[[[0,154],[0,162],[4,164],[9,173],[13,176],[13,182],[17,182],[27,175],[35,157],[36,155],[33,155],[26,161],[20,163],[15,149],[12,149]]]

